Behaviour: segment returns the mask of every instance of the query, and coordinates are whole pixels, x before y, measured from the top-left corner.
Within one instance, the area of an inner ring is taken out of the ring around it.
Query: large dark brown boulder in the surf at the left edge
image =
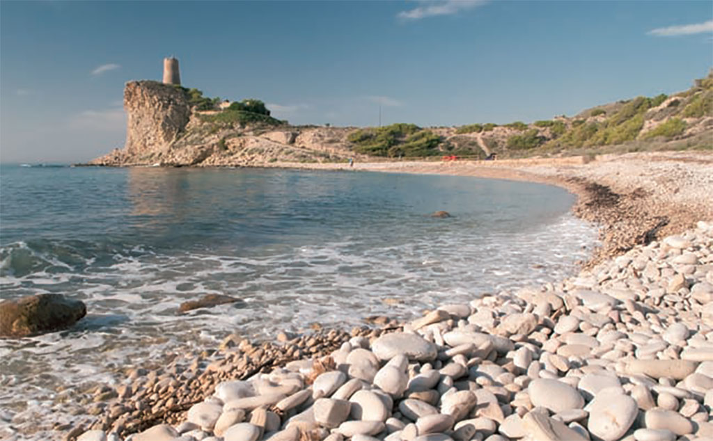
[[[36,294],[0,302],[0,336],[20,338],[60,331],[86,316],[86,305],[62,294]]]

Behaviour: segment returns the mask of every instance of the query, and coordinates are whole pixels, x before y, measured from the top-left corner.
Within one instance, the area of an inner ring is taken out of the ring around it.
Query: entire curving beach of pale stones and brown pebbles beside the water
[[[573,212],[602,232],[579,274],[409,321],[228,336],[98,388],[83,403],[92,416],[57,425],[58,439],[710,439],[713,185],[710,155],[696,157],[501,165],[486,177],[578,193]],[[626,162],[636,173],[611,172]],[[395,167],[382,171],[473,166]]]

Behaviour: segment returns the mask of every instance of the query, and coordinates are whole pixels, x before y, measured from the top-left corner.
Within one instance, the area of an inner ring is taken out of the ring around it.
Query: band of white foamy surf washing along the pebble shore
[[[74,297],[90,313],[71,331],[0,343],[0,408],[14,415],[16,427],[48,413],[66,422],[72,418],[66,404],[52,398],[58,389],[116,384],[121,369],[215,345],[227,333],[271,339],[312,322],[347,327],[372,315],[412,318],[483,292],[558,281],[587,258],[596,235],[592,225],[565,214],[516,233],[451,229],[378,247],[345,237],[263,257],[133,250],[109,266],[88,262],[81,274],[5,274],[0,289],[33,293],[81,280]],[[181,302],[210,293],[242,302],[177,314]]]

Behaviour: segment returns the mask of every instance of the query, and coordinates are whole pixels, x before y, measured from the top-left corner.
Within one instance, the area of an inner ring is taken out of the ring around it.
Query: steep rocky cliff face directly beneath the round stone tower
[[[183,89],[158,81],[126,83],[124,109],[128,115],[125,152],[134,157],[167,149],[190,119]]]

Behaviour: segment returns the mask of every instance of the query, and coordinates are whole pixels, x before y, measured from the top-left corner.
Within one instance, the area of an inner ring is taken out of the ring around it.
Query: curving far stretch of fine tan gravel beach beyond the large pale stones
[[[647,162],[665,164],[655,174]],[[675,182],[679,165],[686,164],[688,185]],[[611,170],[619,178],[607,176]],[[601,157],[522,159],[457,162],[402,161],[346,164],[277,163],[267,167],[298,170],[343,170],[481,177],[555,185],[575,194],[571,208],[576,217],[597,224],[601,246],[585,268],[619,256],[637,244],[679,234],[700,219],[713,219],[713,154],[701,152],[647,152]],[[600,170],[602,169],[602,170]],[[671,176],[666,176],[672,172]],[[668,188],[660,191],[661,184]],[[658,188],[657,188],[658,187]],[[682,194],[671,200],[670,194]]]

